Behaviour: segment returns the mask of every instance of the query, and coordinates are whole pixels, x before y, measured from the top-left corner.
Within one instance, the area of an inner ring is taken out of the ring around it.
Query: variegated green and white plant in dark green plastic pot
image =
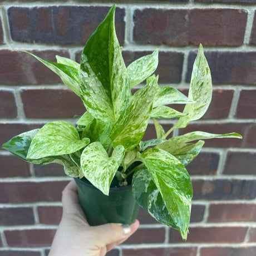
[[[30,53],[81,98],[86,112],[76,127],[66,121],[49,122],[13,137],[3,148],[33,164],[63,165],[76,179],[80,203],[92,225],[130,224],[139,204],[186,239],[193,189],[185,166],[199,154],[203,140],[242,136],[194,131],[168,139],[175,128],[200,119],[210,104],[211,75],[203,47],[194,62],[188,97],[175,88],[159,87],[153,75],[157,50],[125,66],[115,33],[115,8],[87,41],[80,64],[60,56],[50,62]],[[145,80],[142,88],[131,92]],[[185,104],[184,111],[166,106],[170,104]],[[142,141],[150,118],[157,138]],[[178,121],[165,132],[157,119]]]

